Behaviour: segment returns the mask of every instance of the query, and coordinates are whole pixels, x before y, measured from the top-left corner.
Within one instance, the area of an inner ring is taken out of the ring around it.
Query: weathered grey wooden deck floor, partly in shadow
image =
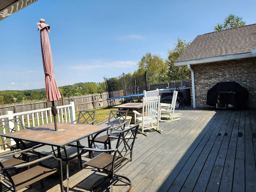
[[[176,110],[176,115],[181,120],[160,122],[163,132],[138,134],[133,160],[120,170],[132,180],[132,192],[256,190],[256,108],[187,107]],[[50,148],[41,150],[46,153]],[[76,162],[73,160],[71,166],[76,168]],[[74,169],[70,172],[70,191],[90,191],[99,177],[89,167]],[[38,183],[25,191],[60,191],[57,176],[44,183],[44,189]]]

